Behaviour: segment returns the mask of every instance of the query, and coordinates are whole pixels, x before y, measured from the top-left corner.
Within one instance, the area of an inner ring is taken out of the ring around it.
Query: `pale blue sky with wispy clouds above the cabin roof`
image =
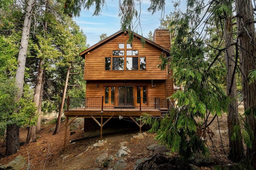
[[[170,12],[174,11],[173,3],[171,1],[172,0],[166,0],[165,12],[162,13],[164,19],[166,19],[166,15],[169,15]],[[110,36],[121,29],[120,17],[118,17],[118,2],[119,1],[117,0],[106,0],[106,4],[102,8],[101,15],[99,16],[92,16],[94,12],[94,7],[92,7],[88,11],[82,10],[80,17],[74,18],[86,35],[87,44],[92,46],[100,41],[101,34],[106,33],[107,36]],[[137,1],[135,2],[138,4]],[[144,37],[147,37],[150,31],[154,32],[156,28],[160,27],[161,12],[159,11],[152,15],[151,12],[148,12],[147,10],[149,6],[150,0],[142,0],[140,14],[141,29],[138,27],[139,29],[137,33]],[[139,12],[139,6],[136,6],[136,9]]]

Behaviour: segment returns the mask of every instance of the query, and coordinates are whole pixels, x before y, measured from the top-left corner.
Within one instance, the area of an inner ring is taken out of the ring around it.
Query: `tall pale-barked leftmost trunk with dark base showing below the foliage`
[[[15,76],[16,85],[19,89],[16,100],[19,101],[23,94],[23,84],[24,84],[24,74],[25,74],[25,64],[26,64],[26,54],[28,50],[28,40],[30,36],[30,26],[33,15],[33,7],[35,0],[28,0],[26,14],[24,18],[24,25],[22,29],[22,36],[20,40],[20,49],[18,53],[18,66],[17,73]],[[19,143],[19,128],[14,123],[14,125],[9,125],[6,132],[6,155],[15,154],[18,152],[20,147]]]

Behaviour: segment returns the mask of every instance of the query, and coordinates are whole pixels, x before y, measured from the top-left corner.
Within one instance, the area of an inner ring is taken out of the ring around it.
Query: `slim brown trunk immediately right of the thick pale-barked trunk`
[[[37,79],[36,79],[36,87],[35,87],[35,92],[34,92],[34,100],[33,102],[35,103],[35,106],[39,109],[39,102],[40,102],[40,95],[41,95],[41,87],[42,87],[42,80],[43,80],[43,66],[44,61],[43,59],[40,59],[39,61],[39,67],[38,67],[38,74],[37,74]],[[39,111],[36,111],[35,115],[41,117],[39,115]],[[40,112],[41,113],[41,112]],[[41,119],[40,122],[37,121],[38,124],[41,125]],[[32,125],[31,127],[28,127],[28,135],[27,135],[27,140],[26,143],[31,143],[31,142],[36,142],[36,125]]]

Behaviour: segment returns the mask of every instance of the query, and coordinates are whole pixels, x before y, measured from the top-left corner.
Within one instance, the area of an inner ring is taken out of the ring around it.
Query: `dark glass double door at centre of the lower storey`
[[[120,106],[133,106],[133,91],[132,86],[119,86],[119,100]]]

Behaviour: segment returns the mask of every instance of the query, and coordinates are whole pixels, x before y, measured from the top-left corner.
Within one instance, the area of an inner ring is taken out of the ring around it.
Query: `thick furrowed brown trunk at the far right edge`
[[[246,112],[246,123],[252,130],[252,148],[247,146],[247,156],[250,157],[253,169],[256,169],[256,82],[249,84],[249,71],[255,69],[256,64],[256,45],[255,45],[255,26],[254,14],[251,0],[235,0],[238,46],[240,54],[240,68],[242,73],[242,91],[244,97],[244,110]]]

